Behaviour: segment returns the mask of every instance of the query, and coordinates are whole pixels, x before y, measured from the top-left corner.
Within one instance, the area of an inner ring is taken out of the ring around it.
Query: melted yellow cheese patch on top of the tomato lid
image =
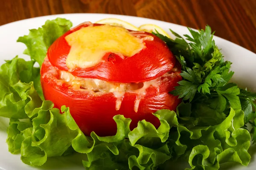
[[[65,39],[71,46],[66,59],[70,70],[93,67],[108,52],[131,57],[145,48],[142,39],[119,26],[88,26],[67,35]]]

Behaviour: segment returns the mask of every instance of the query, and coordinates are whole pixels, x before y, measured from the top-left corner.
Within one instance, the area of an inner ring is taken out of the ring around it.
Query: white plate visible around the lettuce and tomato
[[[24,44],[17,43],[18,37],[29,34],[29,29],[38,28],[44,25],[46,20],[52,20],[56,17],[63,17],[71,20],[73,26],[78,25],[84,21],[96,22],[104,18],[119,18],[125,20],[135,26],[151,23],[156,24],[163,28],[166,32],[170,33],[169,28],[178,34],[189,34],[189,31],[184,26],[179,26],[172,23],[166,23],[158,20],[151,20],[141,17],[130,17],[113,14],[60,14],[45,17],[37,17],[27,20],[21,20],[14,23],[9,23],[0,26],[0,64],[4,63],[4,59],[12,59],[16,55],[19,57],[27,58],[23,55],[23,50],[26,48]],[[213,30],[214,31],[214,30]],[[247,49],[236,45],[232,42],[224,40],[219,37],[214,37],[216,44],[221,48],[222,53],[226,60],[233,62],[232,70],[235,71],[232,81],[239,84],[240,87],[247,87],[256,91],[256,54],[248,51]],[[30,167],[20,161],[20,155],[12,155],[8,152],[6,144],[8,122],[7,119],[0,118],[0,170],[35,170],[37,168]],[[236,166],[229,167],[231,170],[255,170],[256,169],[256,147],[255,145],[250,148],[252,159],[248,167]],[[254,153],[254,154],[253,154]],[[65,158],[51,158],[47,161],[44,167],[38,169],[52,169],[52,170],[84,170],[81,164],[81,159],[76,159],[74,156],[69,159]],[[52,165],[55,166],[52,166]],[[226,169],[226,168],[225,168]]]

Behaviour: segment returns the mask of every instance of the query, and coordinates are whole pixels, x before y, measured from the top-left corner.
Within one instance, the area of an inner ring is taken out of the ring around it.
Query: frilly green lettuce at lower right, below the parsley
[[[171,138],[177,155],[186,156],[192,169],[218,170],[225,162],[238,162],[247,166],[250,162],[250,133],[241,128],[244,112],[231,108],[229,116],[218,125],[187,129],[177,127],[177,140]],[[186,153],[186,154],[185,154]]]

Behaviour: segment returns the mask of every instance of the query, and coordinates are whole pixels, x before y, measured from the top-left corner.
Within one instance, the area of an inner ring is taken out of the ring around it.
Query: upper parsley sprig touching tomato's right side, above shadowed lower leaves
[[[157,36],[167,43],[183,68],[183,80],[172,94],[192,102],[195,94],[211,94],[226,85],[234,73],[230,71],[231,62],[224,62],[209,26],[199,32],[189,28],[189,32],[192,37],[184,35],[187,41],[174,31],[175,40],[158,33]]]

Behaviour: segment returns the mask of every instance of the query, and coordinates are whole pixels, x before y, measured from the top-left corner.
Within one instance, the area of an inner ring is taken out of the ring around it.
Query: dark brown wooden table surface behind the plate
[[[256,53],[256,0],[0,0],[0,25],[63,13],[123,14],[197,29],[208,24]]]

